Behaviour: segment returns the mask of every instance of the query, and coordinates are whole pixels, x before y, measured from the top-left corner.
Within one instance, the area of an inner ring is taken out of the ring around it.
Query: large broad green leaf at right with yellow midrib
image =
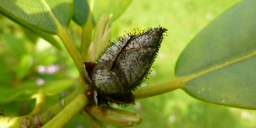
[[[176,64],[182,87],[206,102],[256,109],[256,1],[244,0],[212,21]]]

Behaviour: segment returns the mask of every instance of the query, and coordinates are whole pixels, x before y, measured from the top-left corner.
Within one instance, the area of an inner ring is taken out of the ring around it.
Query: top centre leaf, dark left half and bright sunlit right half
[[[94,23],[96,23],[104,12],[108,15],[113,14],[112,21],[115,21],[124,13],[131,2],[132,0],[74,0],[73,20],[78,25],[84,26],[91,6]]]

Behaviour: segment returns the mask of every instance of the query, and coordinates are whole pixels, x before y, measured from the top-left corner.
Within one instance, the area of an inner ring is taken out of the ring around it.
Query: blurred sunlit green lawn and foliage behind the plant
[[[112,24],[112,39],[123,36],[124,31],[134,32],[134,28],[167,28],[158,57],[151,68],[149,79],[141,86],[161,83],[174,77],[175,62],[189,41],[214,20],[218,15],[241,0],[134,0],[128,9]],[[9,87],[19,89],[27,83],[49,82],[59,79],[76,81],[78,71],[60,39],[62,51],[52,47],[33,33],[16,25],[0,15],[0,96]],[[71,21],[69,34],[79,49],[82,29]],[[23,64],[22,61],[24,61]],[[25,66],[23,66],[25,65]],[[47,72],[47,69],[56,72]],[[25,84],[24,84],[25,83]],[[42,84],[41,86],[44,86]],[[77,84],[65,85],[67,90],[47,96],[46,108],[70,94]],[[26,91],[26,90],[25,90]],[[29,92],[28,92],[29,93]],[[10,93],[11,95],[14,95]],[[6,95],[6,94],[5,94]],[[11,101],[0,99],[0,110],[4,116],[28,114],[35,100]],[[136,128],[254,128],[256,111],[228,108],[196,100],[178,89],[147,99],[136,100],[135,106],[126,108],[113,106],[139,113],[143,123]],[[106,124],[108,128],[115,128]],[[91,127],[86,119],[78,114],[67,128]]]

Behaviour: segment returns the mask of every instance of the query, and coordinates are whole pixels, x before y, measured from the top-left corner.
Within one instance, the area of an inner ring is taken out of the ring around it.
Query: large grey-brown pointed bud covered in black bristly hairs
[[[132,91],[150,73],[167,29],[148,28],[126,32],[127,36],[117,38],[98,59],[98,63],[84,62],[85,81],[94,92],[99,107],[108,101],[117,105],[135,104]]]

